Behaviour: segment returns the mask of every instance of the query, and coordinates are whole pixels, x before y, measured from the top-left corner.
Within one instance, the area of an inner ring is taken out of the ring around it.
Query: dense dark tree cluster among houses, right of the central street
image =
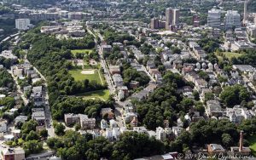
[[[177,87],[186,85],[181,76],[167,71],[164,81],[166,84],[149,94],[147,100],[136,102],[139,121],[148,129],[163,127],[164,120],[168,120],[172,126],[178,114],[184,116],[189,107],[193,106],[193,100],[177,93]]]

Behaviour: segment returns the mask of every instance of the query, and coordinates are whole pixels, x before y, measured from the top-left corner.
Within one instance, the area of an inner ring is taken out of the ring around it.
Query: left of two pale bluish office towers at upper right
[[[220,27],[220,16],[221,12],[218,9],[211,9],[208,11],[207,24],[214,28]]]

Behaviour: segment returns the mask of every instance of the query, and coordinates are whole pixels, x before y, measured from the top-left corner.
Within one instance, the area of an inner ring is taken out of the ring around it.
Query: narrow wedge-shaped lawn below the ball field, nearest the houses
[[[108,100],[109,91],[108,89],[103,89],[103,90],[96,90],[96,91],[91,91],[91,92],[86,92],[83,94],[76,94],[76,95],[83,97],[84,100],[86,99]]]

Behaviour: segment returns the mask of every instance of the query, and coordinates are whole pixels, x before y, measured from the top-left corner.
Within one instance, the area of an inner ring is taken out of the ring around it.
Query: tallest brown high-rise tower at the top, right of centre
[[[170,30],[170,25],[179,23],[179,9],[166,9],[166,30]]]

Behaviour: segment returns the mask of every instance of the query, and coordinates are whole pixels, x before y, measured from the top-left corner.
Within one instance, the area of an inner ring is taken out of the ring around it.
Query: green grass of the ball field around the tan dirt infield
[[[83,81],[88,79],[89,81],[96,81],[96,83],[103,84],[104,78],[99,70],[95,69],[94,74],[82,74],[80,69],[73,69],[68,71],[75,79],[75,81]]]

